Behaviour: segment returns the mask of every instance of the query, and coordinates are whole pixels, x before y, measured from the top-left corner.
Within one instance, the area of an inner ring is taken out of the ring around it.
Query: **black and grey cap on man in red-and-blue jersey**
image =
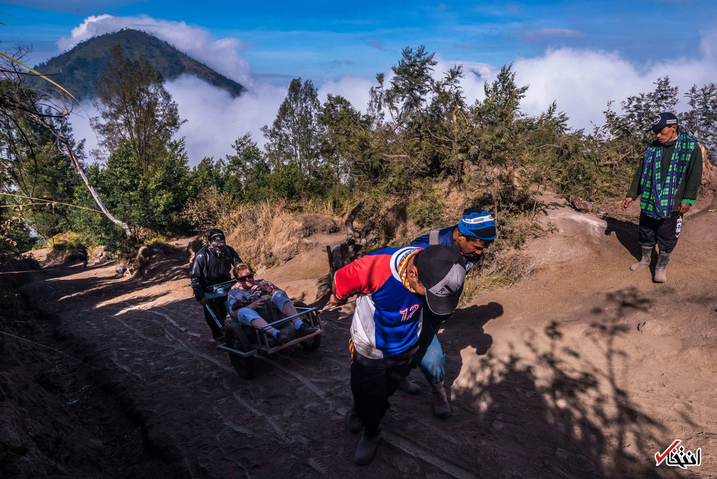
[[[436,314],[455,311],[463,292],[465,265],[454,247],[433,245],[416,256],[418,278],[426,287],[426,302]]]

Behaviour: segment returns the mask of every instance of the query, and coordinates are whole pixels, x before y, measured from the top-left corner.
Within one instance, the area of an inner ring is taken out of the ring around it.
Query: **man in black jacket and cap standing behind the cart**
[[[207,233],[209,245],[201,248],[194,255],[194,264],[191,267],[191,289],[194,291],[194,298],[201,304],[204,311],[206,324],[212,329],[214,339],[224,336],[222,329],[212,315],[206,310],[206,305],[212,308],[214,316],[217,316],[220,324],[224,324],[227,317],[227,309],[224,308],[224,301],[227,295],[217,295],[210,290],[209,286],[224,283],[232,279],[232,268],[242,262],[234,248],[227,246],[224,233],[221,229],[210,229]],[[227,288],[227,291],[229,288]]]

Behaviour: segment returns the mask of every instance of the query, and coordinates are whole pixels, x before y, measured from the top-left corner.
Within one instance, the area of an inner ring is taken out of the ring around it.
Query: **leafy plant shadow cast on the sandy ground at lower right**
[[[625,290],[592,311],[584,331],[602,361],[587,361],[564,334],[570,323],[528,333],[499,357],[488,351],[453,390],[455,402],[475,408],[470,419],[485,442],[481,465],[492,477],[650,477],[650,445],[665,430],[619,382],[627,352],[618,338],[627,310],[645,311],[650,300]],[[579,320],[582,321],[582,320]],[[465,374],[465,371],[464,373]],[[686,418],[685,418],[686,419]],[[652,464],[654,466],[654,464]]]

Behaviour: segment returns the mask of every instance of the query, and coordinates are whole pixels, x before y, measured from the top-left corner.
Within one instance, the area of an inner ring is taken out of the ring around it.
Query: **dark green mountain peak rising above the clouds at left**
[[[103,77],[105,65],[110,60],[110,50],[115,45],[123,47],[125,57],[131,60],[137,60],[139,57],[149,60],[165,80],[174,80],[183,73],[189,73],[210,85],[224,88],[232,97],[237,97],[246,90],[239,83],[197,62],[171,44],[133,29],[92,37],[77,44],[69,52],[37,65],[35,69],[44,74],[62,71],[60,75],[53,75],[52,80],[65,87],[75,98],[95,98],[97,83]],[[49,84],[36,80],[35,85],[47,88]]]

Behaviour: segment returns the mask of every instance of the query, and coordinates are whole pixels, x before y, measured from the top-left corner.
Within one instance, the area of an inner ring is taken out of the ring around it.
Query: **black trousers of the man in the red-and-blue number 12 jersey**
[[[380,431],[381,418],[391,406],[389,397],[411,370],[411,358],[417,346],[401,356],[384,359],[361,356],[353,349],[353,343],[351,349],[351,392],[356,415],[366,435],[375,436]]]

